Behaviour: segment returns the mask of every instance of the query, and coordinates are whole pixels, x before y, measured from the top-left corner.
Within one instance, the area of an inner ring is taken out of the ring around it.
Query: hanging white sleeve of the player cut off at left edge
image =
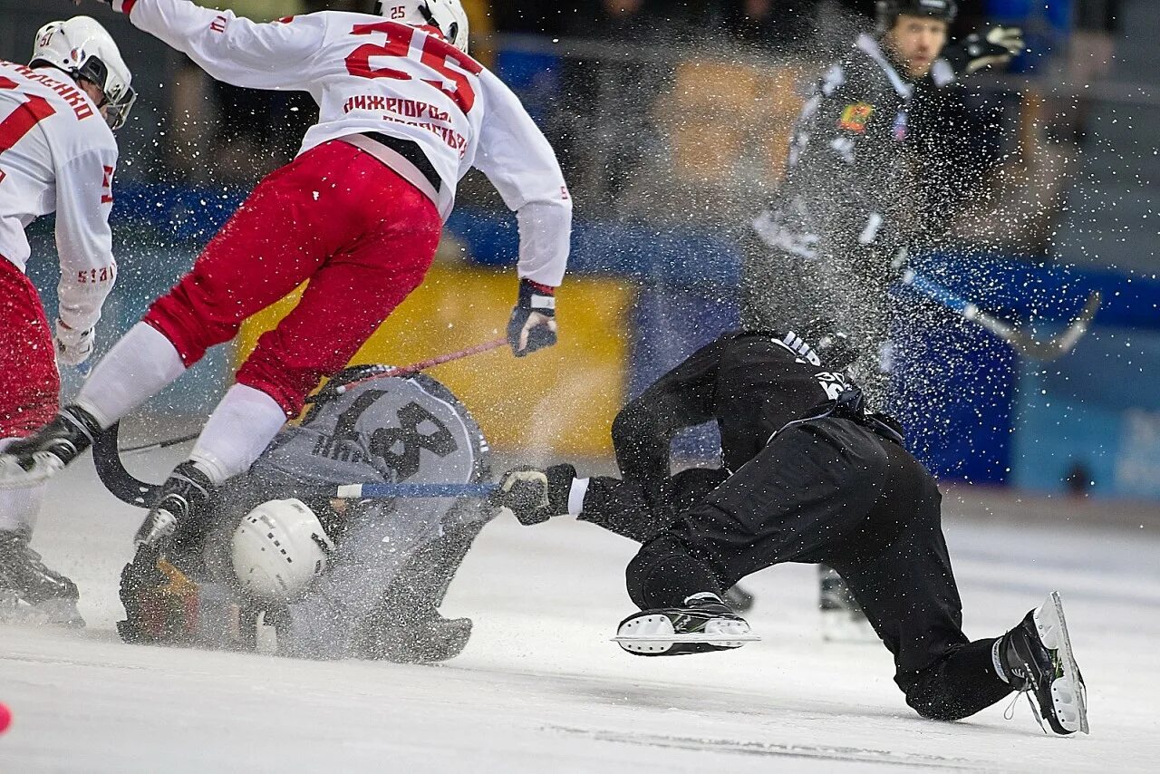
[[[109,230],[116,164],[116,146],[95,146],[57,166],[57,317],[78,331],[101,319],[101,305],[116,280]]]

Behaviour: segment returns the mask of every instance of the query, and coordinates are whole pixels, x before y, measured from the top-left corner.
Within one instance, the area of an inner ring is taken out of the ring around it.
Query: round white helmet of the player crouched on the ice
[[[326,570],[334,543],[302,500],[269,500],[242,518],[233,533],[233,573],[263,602],[289,602]]]

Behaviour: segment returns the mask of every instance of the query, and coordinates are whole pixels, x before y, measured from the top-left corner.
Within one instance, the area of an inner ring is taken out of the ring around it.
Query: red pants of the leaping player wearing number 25
[[[237,377],[295,417],[419,287],[441,231],[432,201],[390,167],[325,143],[263,179],[145,321],[189,367],[309,280]]]

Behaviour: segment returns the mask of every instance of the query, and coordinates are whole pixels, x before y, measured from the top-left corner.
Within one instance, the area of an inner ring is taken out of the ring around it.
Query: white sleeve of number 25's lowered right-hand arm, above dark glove
[[[559,161],[520,99],[499,78],[480,73],[487,113],[476,167],[495,186],[520,223],[521,277],[557,287],[572,238],[572,197]]]

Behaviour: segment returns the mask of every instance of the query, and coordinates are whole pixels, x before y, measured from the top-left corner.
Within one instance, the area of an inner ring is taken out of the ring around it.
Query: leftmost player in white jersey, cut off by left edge
[[[93,352],[117,273],[108,222],[117,166],[111,130],[132,107],[130,79],[116,43],[87,16],[43,27],[27,66],[0,60],[0,448],[57,413],[57,362],[77,366]],[[24,227],[52,211],[60,260],[55,337],[24,275]],[[28,545],[43,495],[38,483],[0,490],[0,617],[80,624],[77,586]]]

